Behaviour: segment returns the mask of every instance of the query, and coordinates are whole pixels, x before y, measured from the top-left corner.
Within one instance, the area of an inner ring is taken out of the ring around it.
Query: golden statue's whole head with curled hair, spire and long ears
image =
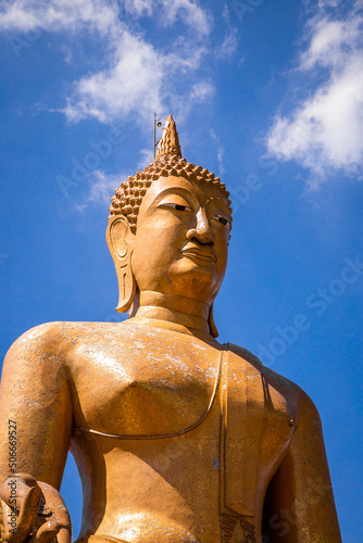
[[[210,307],[227,265],[229,193],[221,180],[182,159],[173,117],[166,119],[157,159],[128,177],[111,199],[108,244],[118,278],[120,312],[154,291]]]

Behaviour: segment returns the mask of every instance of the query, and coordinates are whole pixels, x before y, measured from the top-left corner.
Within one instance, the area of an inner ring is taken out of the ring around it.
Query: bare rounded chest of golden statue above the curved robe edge
[[[217,392],[221,351],[198,340],[162,339],[133,338],[78,350],[77,427],[159,435],[179,432],[206,415]]]

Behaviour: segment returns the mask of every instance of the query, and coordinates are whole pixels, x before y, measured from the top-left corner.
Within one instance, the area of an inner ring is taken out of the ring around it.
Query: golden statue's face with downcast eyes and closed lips
[[[230,212],[217,187],[173,176],[153,181],[133,241],[139,290],[212,303],[226,270],[229,231]]]

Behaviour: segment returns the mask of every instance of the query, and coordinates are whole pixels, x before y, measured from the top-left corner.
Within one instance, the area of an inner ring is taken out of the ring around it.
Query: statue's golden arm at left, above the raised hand
[[[0,386],[0,484],[15,473],[29,473],[46,483],[40,484],[46,500],[48,493],[50,502],[54,496],[57,502],[54,489],[59,491],[61,485],[72,416],[57,325],[42,325],[22,336],[4,359]],[[16,484],[17,494],[25,492],[21,480]]]

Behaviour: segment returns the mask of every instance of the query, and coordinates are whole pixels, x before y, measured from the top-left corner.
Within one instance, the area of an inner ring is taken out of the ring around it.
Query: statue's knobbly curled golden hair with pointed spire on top
[[[165,121],[163,136],[158,147],[158,154],[142,172],[137,172],[135,176],[128,176],[120,188],[115,189],[115,195],[111,198],[110,217],[123,215],[127,218],[132,231],[136,232],[137,216],[139,207],[148,188],[159,179],[159,177],[176,176],[184,177],[190,181],[214,185],[225,195],[228,205],[229,192],[218,177],[202,166],[196,166],[182,157],[179,138],[175,123],[170,115]],[[231,212],[231,210],[230,210]]]

